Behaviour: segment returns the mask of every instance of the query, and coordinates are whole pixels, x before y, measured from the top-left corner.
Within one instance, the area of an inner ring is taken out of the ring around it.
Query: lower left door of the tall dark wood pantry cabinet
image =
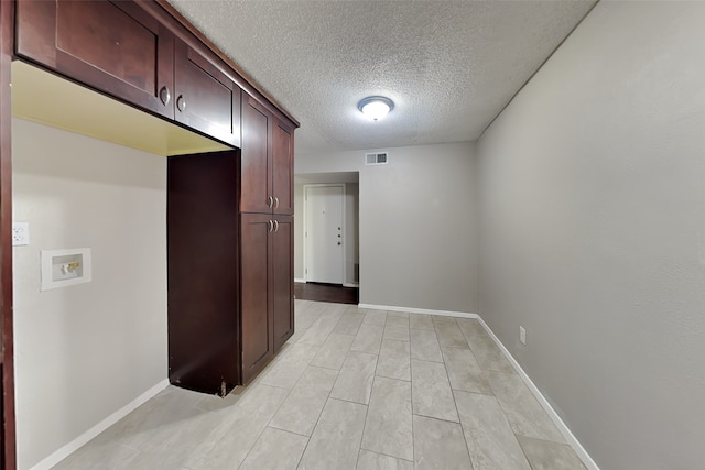
[[[242,383],[254,376],[273,354],[270,231],[272,218],[240,216],[240,325]]]

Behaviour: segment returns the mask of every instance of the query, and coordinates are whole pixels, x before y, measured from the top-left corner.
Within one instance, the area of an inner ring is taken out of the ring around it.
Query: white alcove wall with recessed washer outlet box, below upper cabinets
[[[166,379],[166,159],[12,121],[19,469]],[[93,282],[40,292],[40,250],[90,248]]]

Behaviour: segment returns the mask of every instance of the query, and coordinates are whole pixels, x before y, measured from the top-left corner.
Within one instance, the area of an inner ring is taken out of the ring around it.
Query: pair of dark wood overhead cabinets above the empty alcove
[[[19,0],[17,54],[239,147],[240,87],[221,61],[194,50],[144,6]]]

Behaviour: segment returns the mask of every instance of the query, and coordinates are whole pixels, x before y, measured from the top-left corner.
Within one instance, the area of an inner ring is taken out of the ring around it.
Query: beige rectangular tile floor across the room
[[[56,469],[582,470],[474,319],[296,300],[226,398],[170,386]]]

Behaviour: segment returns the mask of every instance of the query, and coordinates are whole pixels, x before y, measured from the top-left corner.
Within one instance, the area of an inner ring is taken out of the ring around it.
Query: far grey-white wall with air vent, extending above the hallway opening
[[[475,144],[296,154],[295,173],[359,172],[360,303],[477,311]]]

